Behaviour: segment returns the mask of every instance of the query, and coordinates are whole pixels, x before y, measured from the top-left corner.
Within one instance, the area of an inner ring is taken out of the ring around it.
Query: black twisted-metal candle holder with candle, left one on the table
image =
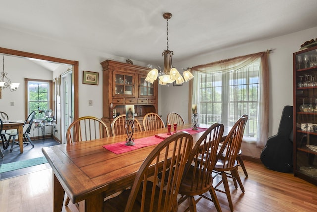
[[[125,128],[127,132],[127,138],[125,139],[126,146],[133,146],[134,144],[134,105],[125,106]]]

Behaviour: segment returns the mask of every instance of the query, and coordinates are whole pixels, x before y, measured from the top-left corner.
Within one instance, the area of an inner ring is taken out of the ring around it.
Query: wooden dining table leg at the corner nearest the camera
[[[79,202],[79,212],[103,212],[104,197],[102,194],[89,196],[86,200]]]

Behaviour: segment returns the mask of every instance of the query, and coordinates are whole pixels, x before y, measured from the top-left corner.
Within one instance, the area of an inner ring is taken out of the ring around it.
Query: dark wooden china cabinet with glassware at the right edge
[[[293,54],[294,175],[317,185],[317,47]]]

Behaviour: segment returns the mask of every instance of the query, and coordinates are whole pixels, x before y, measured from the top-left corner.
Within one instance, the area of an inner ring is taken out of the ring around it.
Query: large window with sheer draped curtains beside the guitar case
[[[242,115],[248,114],[244,136],[258,146],[265,145],[268,134],[267,53],[192,68],[190,102],[198,105],[199,123],[220,122],[233,126]]]

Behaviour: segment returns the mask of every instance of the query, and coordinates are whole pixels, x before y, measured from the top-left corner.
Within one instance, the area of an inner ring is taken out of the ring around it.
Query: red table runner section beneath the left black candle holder
[[[146,146],[151,146],[160,143],[163,141],[161,138],[157,138],[155,136],[140,138],[134,140],[134,146],[126,146],[125,141],[119,142],[119,143],[112,143],[108,145],[104,145],[103,147],[108,149],[109,151],[112,151],[115,154],[121,154],[128,151],[132,151],[135,149],[139,149]]]

